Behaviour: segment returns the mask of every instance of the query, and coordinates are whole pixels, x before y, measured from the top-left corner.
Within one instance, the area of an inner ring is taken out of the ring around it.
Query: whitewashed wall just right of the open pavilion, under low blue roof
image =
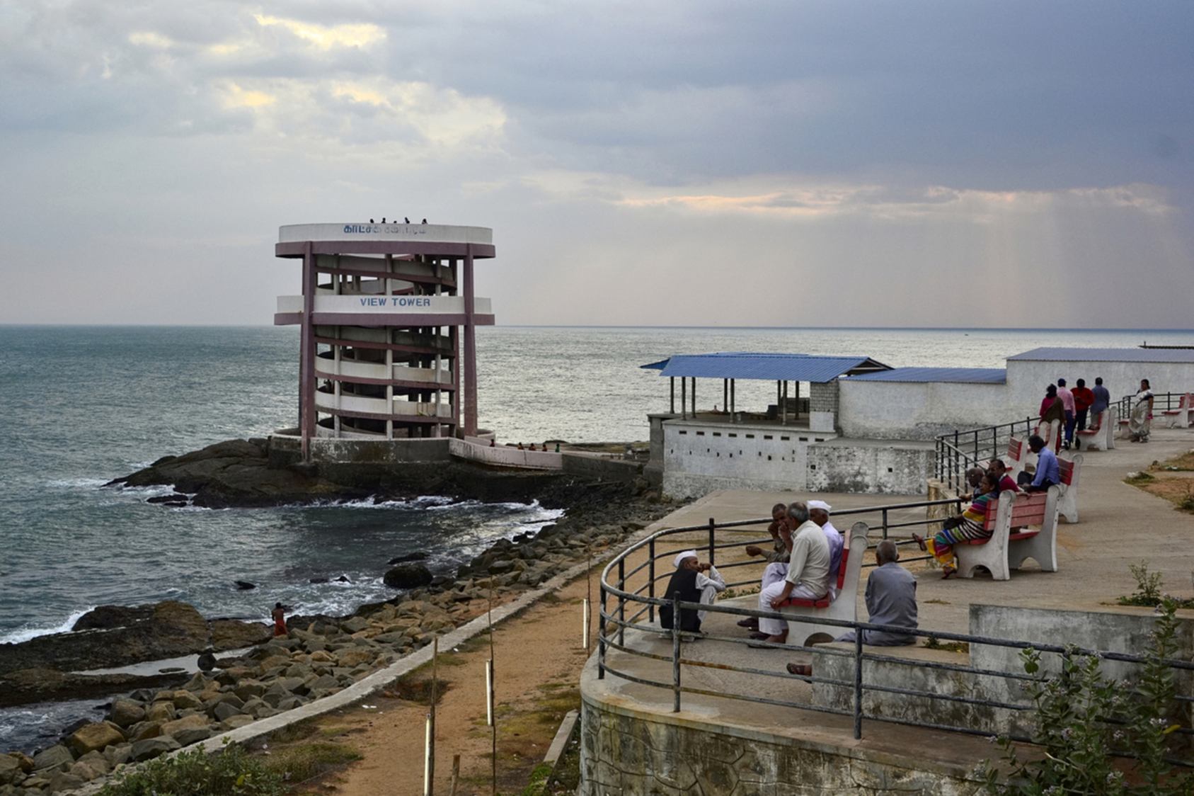
[[[931,440],[954,429],[1010,423],[1017,414],[1023,420],[1002,384],[838,380],[837,422],[848,437]]]

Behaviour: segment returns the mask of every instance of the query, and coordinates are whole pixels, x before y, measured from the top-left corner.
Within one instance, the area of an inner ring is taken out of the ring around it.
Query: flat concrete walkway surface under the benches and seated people
[[[1122,479],[1128,472],[1143,470],[1155,460],[1165,460],[1194,448],[1194,429],[1156,429],[1152,442],[1146,445],[1133,445],[1126,440],[1116,442],[1120,447],[1113,451],[1083,455],[1078,497],[1081,522],[1067,525],[1061,520],[1058,532],[1058,572],[1042,572],[1036,569],[1035,563],[1029,562],[1026,564],[1027,569],[1013,572],[1010,581],[992,581],[985,571],[973,580],[954,577],[943,581],[938,569],[912,564],[910,569],[916,574],[918,582],[921,627],[966,633],[970,630],[971,604],[1151,613],[1150,608],[1112,605],[1119,595],[1135,590],[1137,583],[1128,570],[1128,564],[1141,559],[1149,561],[1150,570],[1163,574],[1169,592],[1188,596],[1192,593],[1190,578],[1194,569],[1194,516],[1175,510],[1168,501],[1130,486],[1122,483]],[[827,501],[835,512],[923,500],[919,496],[727,490],[710,494],[675,512],[652,526],[651,531],[703,525],[709,518],[719,522],[757,519],[768,515],[774,503],[788,503],[808,497]],[[900,518],[923,519],[924,509],[893,512],[891,520],[898,521]],[[848,531],[854,520],[855,518],[843,516],[836,525],[839,529]],[[764,527],[756,526],[753,531],[743,532],[741,539],[758,538]],[[907,533],[907,529],[894,531],[892,537],[906,538]],[[719,540],[727,535],[727,532],[718,532]],[[872,541],[876,537],[878,533],[873,533]],[[701,550],[702,545],[706,550]],[[687,533],[667,539],[666,543],[661,541],[657,555],[665,550],[683,550],[691,546],[697,549],[701,559],[704,561],[708,557],[707,545],[707,532]],[[901,550],[909,556],[919,555],[915,547],[901,547]],[[757,578],[761,571],[761,565],[756,563],[758,559],[752,559],[750,564],[743,567],[734,567],[734,563],[750,561],[740,549],[718,550],[715,557],[719,570],[727,582]],[[633,572],[645,559],[642,552],[628,559],[626,580],[630,589],[645,587],[646,570]],[[659,562],[657,576],[665,571],[670,571],[670,564]],[[616,569],[613,574],[616,576]],[[860,619],[867,617],[862,600],[866,575],[867,570],[863,571],[857,595]],[[757,605],[750,595],[728,602],[741,607]],[[608,607],[613,608],[614,605],[615,601],[610,600]],[[1194,616],[1194,612],[1180,613]],[[670,684],[672,676],[669,661],[670,639],[660,637],[658,619],[654,625],[647,625],[645,616],[638,622],[644,623],[644,626],[628,630],[626,644],[640,653],[658,657],[628,655],[610,649],[607,663],[636,678]],[[733,617],[724,614],[710,614],[703,629],[712,637],[745,638],[746,636],[746,631],[734,624]],[[682,680],[685,687],[718,693],[764,696],[805,704],[811,699],[812,691],[807,682],[783,673],[786,662],[808,662],[810,653],[752,649],[745,644],[726,644],[712,637],[683,645],[682,657],[685,661],[712,665],[712,667],[683,666]],[[890,654],[897,650],[869,648],[869,651]],[[968,661],[968,655],[965,653],[923,648],[901,648],[898,654],[917,660],[959,665],[966,665]],[[756,673],[727,671],[724,668],[726,666],[747,667]],[[636,716],[647,723],[678,722],[681,727],[702,725],[733,736],[786,737],[789,739],[788,742],[794,743],[825,745],[826,748],[832,747],[847,757],[892,755],[893,760],[915,760],[910,764],[915,769],[931,770],[959,779],[966,779],[967,772],[979,760],[998,758],[998,749],[989,746],[985,740],[973,736],[866,721],[862,740],[855,741],[851,722],[844,716],[701,693],[684,693],[682,712],[672,714],[670,687],[642,685],[613,674],[598,680],[596,661],[590,661],[583,676],[583,692],[586,699],[593,704],[599,703],[603,709]]]

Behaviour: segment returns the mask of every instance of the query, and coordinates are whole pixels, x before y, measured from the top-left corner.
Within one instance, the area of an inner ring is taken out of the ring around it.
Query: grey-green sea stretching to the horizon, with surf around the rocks
[[[645,441],[669,381],[641,366],[672,354],[999,368],[1041,345],[1144,342],[1194,345],[1194,331],[491,326],[478,331],[479,418],[499,442]],[[290,326],[0,325],[0,643],[68,630],[106,604],[183,600],[208,617],[263,622],[275,602],[347,613],[392,594],[381,581],[392,557],[423,551],[449,571],[560,515],[437,495],[165,508],[147,501],[166,488],[105,486],[164,455],[295,425],[297,363]],[[698,390],[701,408],[721,403],[720,385]],[[736,405],[762,410],[774,391],[739,381]],[[0,752],[35,747],[72,710],[81,706],[0,710]]]

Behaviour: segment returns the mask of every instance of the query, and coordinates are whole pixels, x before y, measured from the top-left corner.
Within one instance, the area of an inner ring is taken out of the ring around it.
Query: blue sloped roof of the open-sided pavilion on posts
[[[661,366],[661,367],[660,367]],[[664,362],[644,365],[665,376],[698,379],[759,379],[768,381],[813,381],[824,384],[847,373],[887,369],[867,356],[810,356],[808,354],[677,354]]]

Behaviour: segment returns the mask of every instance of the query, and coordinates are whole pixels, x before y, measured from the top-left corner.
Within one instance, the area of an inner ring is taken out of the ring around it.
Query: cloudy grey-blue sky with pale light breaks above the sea
[[[1194,4],[0,0],[0,323],[270,324],[493,228],[499,324],[1190,327]]]

